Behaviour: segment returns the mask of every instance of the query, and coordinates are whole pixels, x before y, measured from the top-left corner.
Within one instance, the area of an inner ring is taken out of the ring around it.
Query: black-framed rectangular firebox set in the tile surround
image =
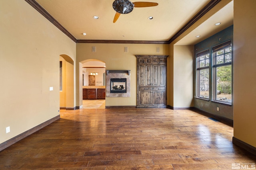
[[[110,93],[126,93],[126,78],[110,78]]]

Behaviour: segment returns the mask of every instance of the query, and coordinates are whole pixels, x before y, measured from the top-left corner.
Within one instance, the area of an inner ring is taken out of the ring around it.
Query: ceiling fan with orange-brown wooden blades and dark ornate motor
[[[130,2],[130,0],[115,0],[112,6],[116,11],[116,15],[114,16],[114,20],[113,20],[113,23],[115,23],[121,14],[129,14],[130,12],[132,12],[134,7],[141,8],[141,7],[158,6],[158,3]]]

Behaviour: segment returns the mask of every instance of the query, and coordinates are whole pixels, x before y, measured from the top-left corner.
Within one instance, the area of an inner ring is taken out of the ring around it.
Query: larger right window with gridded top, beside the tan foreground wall
[[[232,93],[232,46],[227,41],[212,47],[213,100],[231,104]]]

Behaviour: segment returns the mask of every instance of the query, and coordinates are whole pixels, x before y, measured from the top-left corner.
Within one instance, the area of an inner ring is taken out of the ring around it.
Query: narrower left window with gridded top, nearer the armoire
[[[197,97],[209,99],[209,50],[196,54]]]

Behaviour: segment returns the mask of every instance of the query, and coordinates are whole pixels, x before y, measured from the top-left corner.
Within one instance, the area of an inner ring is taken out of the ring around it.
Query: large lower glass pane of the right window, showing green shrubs
[[[231,102],[231,65],[216,67],[216,100]]]

